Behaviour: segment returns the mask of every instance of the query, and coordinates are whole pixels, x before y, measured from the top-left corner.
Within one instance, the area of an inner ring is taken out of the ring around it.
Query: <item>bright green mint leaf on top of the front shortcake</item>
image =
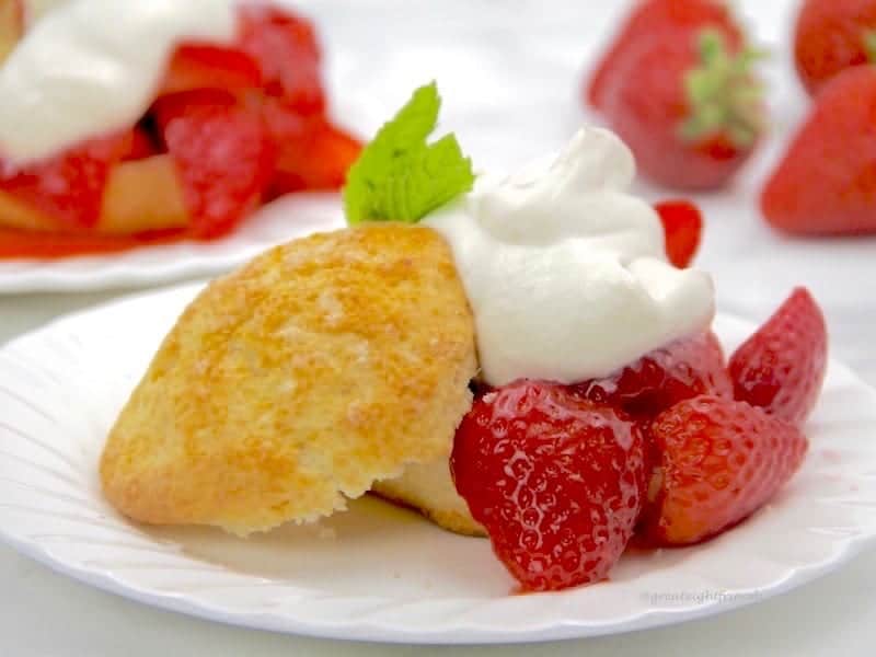
[[[416,223],[433,210],[470,192],[472,162],[454,135],[428,143],[441,99],[435,82],[420,87],[378,131],[347,174],[347,222]]]

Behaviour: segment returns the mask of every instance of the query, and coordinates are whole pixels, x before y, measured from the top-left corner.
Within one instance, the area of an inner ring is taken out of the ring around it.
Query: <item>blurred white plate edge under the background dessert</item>
[[[177,242],[57,261],[0,261],[0,295],[129,288],[219,274],[275,244],[343,224],[337,194],[291,194],[215,242]]]

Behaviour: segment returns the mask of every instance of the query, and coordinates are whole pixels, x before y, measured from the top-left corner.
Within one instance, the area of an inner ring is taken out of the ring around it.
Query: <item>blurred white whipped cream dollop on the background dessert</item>
[[[231,43],[235,0],[68,0],[0,66],[0,157],[24,165],[134,125],[176,45]]]

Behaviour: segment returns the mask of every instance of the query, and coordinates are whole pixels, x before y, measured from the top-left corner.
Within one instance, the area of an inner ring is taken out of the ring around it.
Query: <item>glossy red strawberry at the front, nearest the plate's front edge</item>
[[[475,401],[450,468],[496,556],[527,590],[604,579],[642,506],[643,437],[565,387],[519,381]]]

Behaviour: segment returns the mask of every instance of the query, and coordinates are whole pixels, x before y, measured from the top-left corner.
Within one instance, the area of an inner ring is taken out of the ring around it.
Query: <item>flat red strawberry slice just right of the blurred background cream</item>
[[[189,44],[176,48],[158,95],[197,89],[237,92],[261,85],[258,65],[243,50]]]

